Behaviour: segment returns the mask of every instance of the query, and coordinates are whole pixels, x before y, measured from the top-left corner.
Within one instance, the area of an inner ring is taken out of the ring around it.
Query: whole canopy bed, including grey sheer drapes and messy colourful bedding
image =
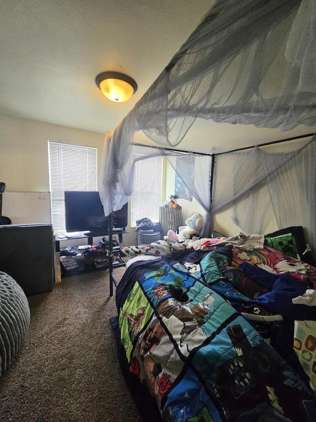
[[[105,215],[131,194],[138,131],[167,156],[202,119],[259,133],[315,125],[314,23],[310,0],[215,1],[108,132]],[[278,228],[301,224],[315,254],[316,135],[276,139],[289,141],[277,152],[260,135],[231,149],[220,134],[205,141],[204,157],[194,137],[179,166],[167,157],[205,210],[202,238],[122,249],[131,259],[111,319],[119,362],[147,421],[315,421],[315,263],[306,244],[277,247],[287,233],[249,234],[266,233],[274,215]],[[243,233],[212,238],[213,217],[227,207]]]

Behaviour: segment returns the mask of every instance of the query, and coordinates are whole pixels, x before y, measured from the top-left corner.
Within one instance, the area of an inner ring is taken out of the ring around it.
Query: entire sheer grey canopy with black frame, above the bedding
[[[98,186],[104,214],[128,201],[135,161],[161,155],[205,211],[203,237],[233,208],[230,217],[245,233],[265,233],[272,219],[273,229],[301,224],[316,254],[315,1],[210,6],[107,132]],[[242,140],[238,128],[249,128]],[[131,157],[135,145],[141,157]]]

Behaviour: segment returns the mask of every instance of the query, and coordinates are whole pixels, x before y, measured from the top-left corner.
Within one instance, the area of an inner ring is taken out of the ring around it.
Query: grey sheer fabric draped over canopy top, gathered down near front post
[[[175,146],[197,117],[280,130],[315,124],[315,17],[316,0],[216,1],[111,134],[104,200],[124,177],[136,131]]]

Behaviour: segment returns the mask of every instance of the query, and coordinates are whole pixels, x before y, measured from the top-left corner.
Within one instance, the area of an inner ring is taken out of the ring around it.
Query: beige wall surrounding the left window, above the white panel
[[[103,134],[6,116],[0,128],[0,180],[7,191],[49,191],[48,140],[96,147],[101,164]]]

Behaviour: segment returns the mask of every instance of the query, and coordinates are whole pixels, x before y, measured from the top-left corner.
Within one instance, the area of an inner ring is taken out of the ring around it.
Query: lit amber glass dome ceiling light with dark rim
[[[114,102],[127,101],[137,91],[134,79],[119,72],[102,72],[95,78],[95,83]]]

